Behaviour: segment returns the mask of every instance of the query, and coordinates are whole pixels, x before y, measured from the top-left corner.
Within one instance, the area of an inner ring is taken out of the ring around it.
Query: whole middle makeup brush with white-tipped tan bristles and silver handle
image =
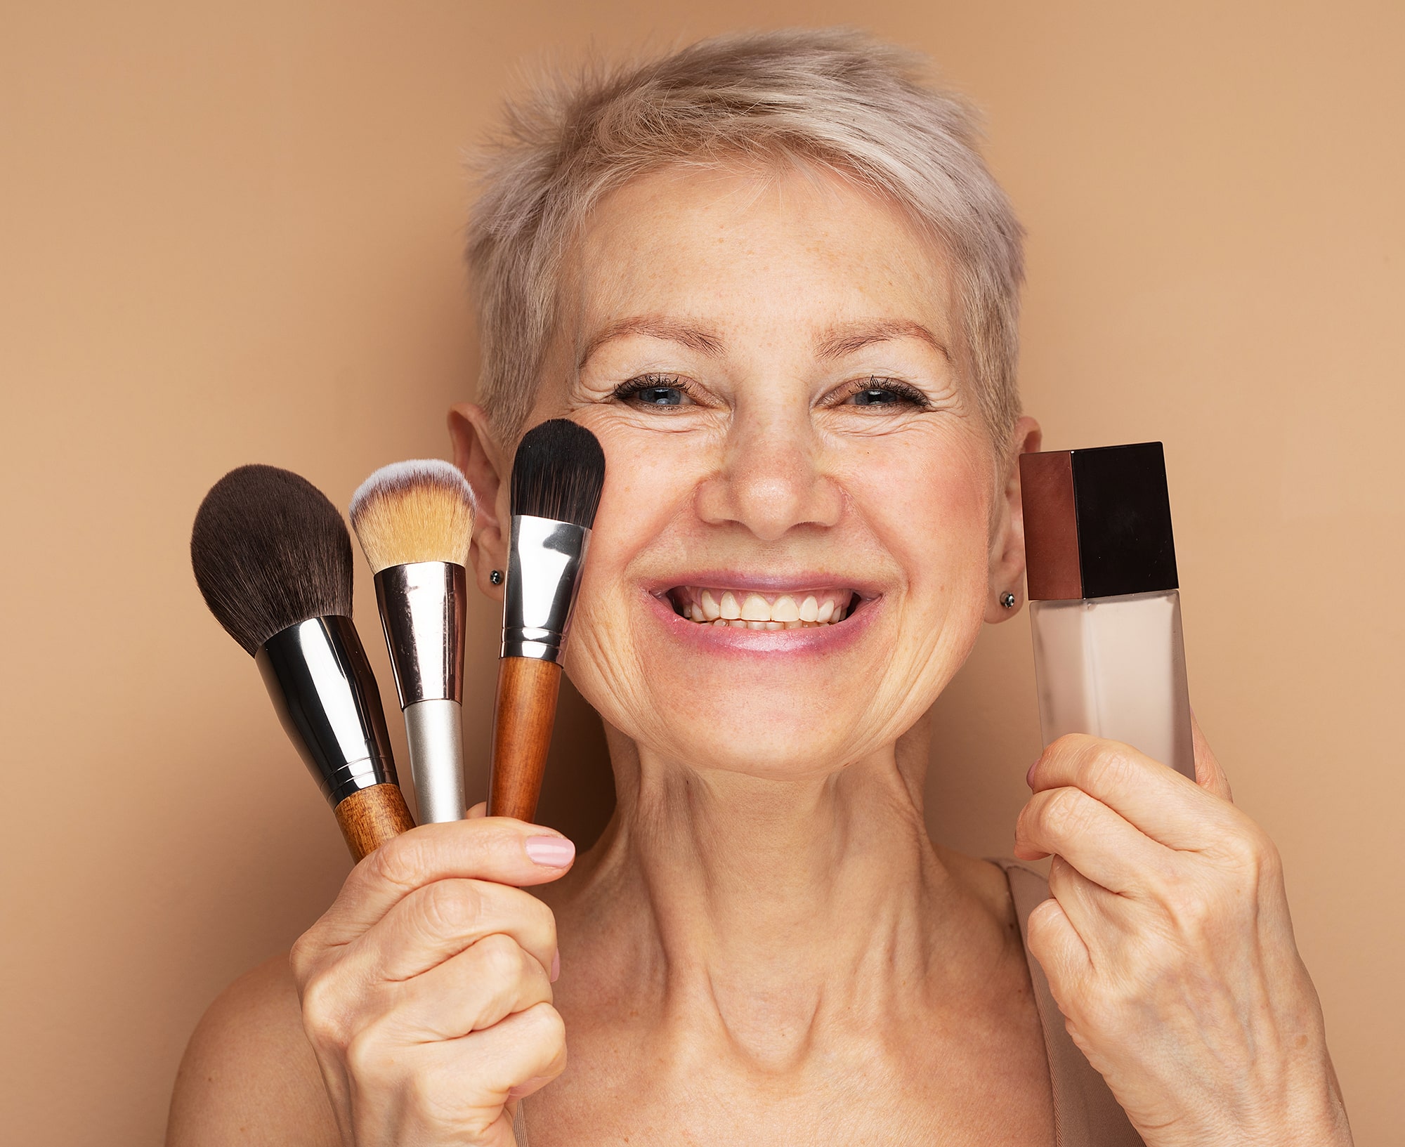
[[[351,498],[351,529],[405,713],[420,822],[464,819],[464,609],[473,492],[450,462],[392,462]]]

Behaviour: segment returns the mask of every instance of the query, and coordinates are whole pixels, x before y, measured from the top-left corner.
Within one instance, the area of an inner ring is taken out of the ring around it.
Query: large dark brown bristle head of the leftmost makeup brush
[[[351,616],[351,536],[289,469],[239,467],[215,482],[195,512],[190,562],[209,611],[250,654],[311,617]]]

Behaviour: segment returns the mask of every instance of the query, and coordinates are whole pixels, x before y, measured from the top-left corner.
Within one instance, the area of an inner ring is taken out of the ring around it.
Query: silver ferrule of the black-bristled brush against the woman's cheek
[[[513,514],[503,600],[503,656],[559,661],[580,589],[590,530]]]

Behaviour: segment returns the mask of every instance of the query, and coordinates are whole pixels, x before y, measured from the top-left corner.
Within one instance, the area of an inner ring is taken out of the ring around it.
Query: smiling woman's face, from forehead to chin
[[[601,204],[569,280],[530,422],[607,458],[582,694],[667,760],[757,776],[896,739],[1006,588],[943,261],[832,176],[674,170]]]

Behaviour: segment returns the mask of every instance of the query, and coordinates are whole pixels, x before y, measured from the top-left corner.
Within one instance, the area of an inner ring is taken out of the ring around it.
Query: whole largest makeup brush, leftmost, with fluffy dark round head
[[[209,611],[259,665],[351,856],[413,828],[351,624],[351,540],[336,506],[291,471],[239,467],[200,503],[190,559]]]

